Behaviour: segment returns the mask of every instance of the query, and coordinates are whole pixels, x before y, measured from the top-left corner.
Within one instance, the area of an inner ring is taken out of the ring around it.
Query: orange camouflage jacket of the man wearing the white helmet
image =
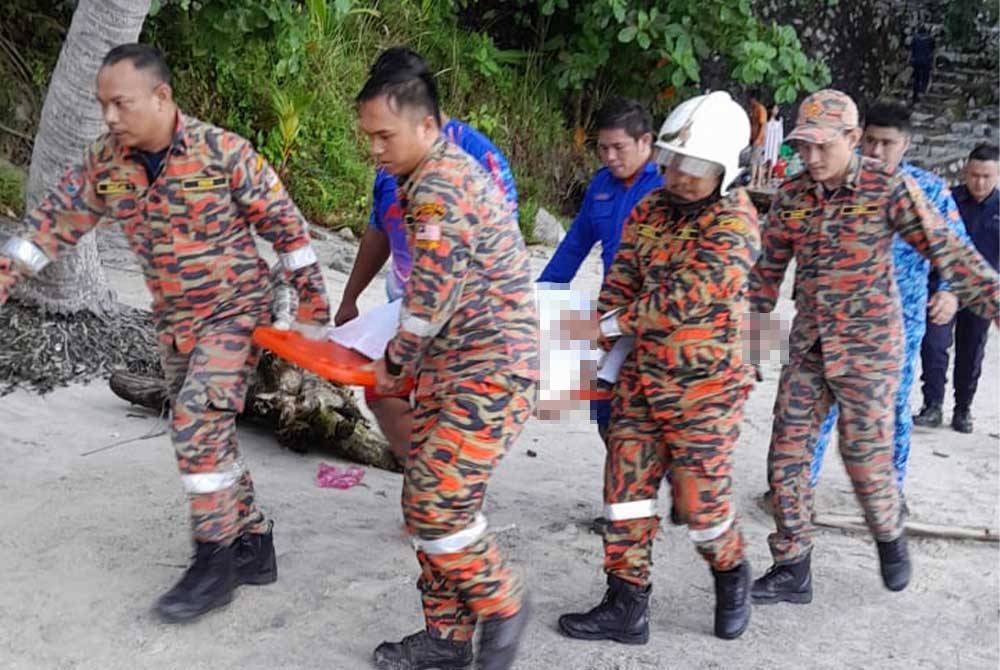
[[[657,189],[625,222],[598,311],[611,318],[618,310],[615,330],[635,336],[639,371],[651,378],[742,376],[747,276],[759,253],[757,210],[746,191],[684,213]]]

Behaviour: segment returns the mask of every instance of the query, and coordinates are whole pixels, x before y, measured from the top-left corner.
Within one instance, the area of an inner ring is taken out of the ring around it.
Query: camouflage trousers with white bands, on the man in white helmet
[[[741,373],[652,380],[626,364],[612,400],[604,468],[604,571],[649,583],[656,497],[669,478],[675,510],[717,570],[743,560],[732,502],[732,452],[749,385]]]

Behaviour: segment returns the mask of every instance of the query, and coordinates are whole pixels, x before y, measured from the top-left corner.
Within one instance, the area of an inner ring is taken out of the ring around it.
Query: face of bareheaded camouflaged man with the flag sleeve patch
[[[433,115],[397,108],[385,95],[358,105],[358,125],[371,142],[375,163],[393,176],[413,172],[441,134]]]

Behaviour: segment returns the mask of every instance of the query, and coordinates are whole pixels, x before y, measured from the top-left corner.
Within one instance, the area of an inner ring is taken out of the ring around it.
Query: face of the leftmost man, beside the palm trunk
[[[173,129],[170,86],[157,82],[148,70],[129,61],[101,68],[97,73],[97,101],[108,130],[128,147],[158,151],[155,146]]]

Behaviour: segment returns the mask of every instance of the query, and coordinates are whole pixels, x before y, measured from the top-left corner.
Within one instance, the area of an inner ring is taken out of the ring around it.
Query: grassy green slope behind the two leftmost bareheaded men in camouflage
[[[460,29],[447,3],[164,0],[146,33],[167,53],[182,107],[251,139],[319,223],[367,221],[374,170],[354,96],[369,64],[395,44],[423,53],[438,70],[444,109],[507,154],[525,224],[589,167],[566,159],[569,135],[532,54]]]

